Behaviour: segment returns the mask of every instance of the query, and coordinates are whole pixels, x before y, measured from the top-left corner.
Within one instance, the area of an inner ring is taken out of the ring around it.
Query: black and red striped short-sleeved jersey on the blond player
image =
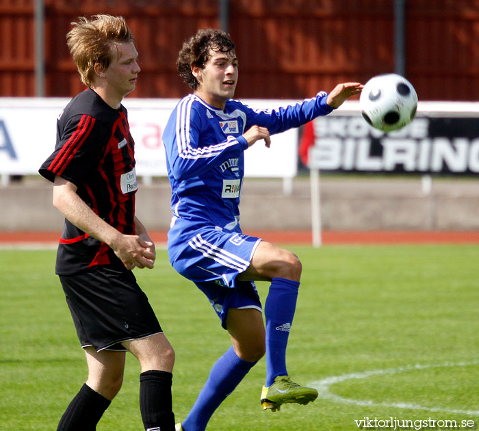
[[[79,197],[103,220],[125,234],[135,233],[134,142],[127,109],[113,109],[91,89],[78,94],[57,120],[55,151],[39,170],[77,186]],[[107,244],[65,220],[56,273],[75,274],[96,265],[122,265]]]

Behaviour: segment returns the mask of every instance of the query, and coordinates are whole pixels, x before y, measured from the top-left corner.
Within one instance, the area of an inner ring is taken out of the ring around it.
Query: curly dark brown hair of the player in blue
[[[193,90],[198,88],[198,80],[192,73],[192,66],[204,68],[209,60],[210,49],[222,53],[231,53],[235,50],[235,44],[222,30],[199,29],[190,40],[183,43],[178,54],[177,68],[179,75]]]

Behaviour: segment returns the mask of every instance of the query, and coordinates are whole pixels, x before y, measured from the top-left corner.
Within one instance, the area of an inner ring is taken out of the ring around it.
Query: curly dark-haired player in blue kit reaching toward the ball
[[[233,100],[238,79],[235,45],[224,32],[200,30],[183,44],[177,66],[193,89],[174,109],[163,139],[172,186],[168,253],[175,270],[205,293],[232,346],[209,374],[177,430],[203,431],[214,410],[266,351],[263,408],[308,404],[318,391],[289,378],[285,352],[302,271],[296,255],[239,228],[244,151],[270,134],[326,115],[363,87],[342,83],[330,94],[273,111]],[[254,280],[270,281],[266,331]]]

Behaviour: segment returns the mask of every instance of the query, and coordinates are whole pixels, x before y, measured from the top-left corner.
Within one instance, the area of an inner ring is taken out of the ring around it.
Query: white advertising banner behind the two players
[[[56,118],[69,99],[0,98],[0,175],[37,174],[55,148]],[[125,99],[135,140],[136,172],[140,177],[166,176],[161,141],[174,99]],[[255,109],[270,109],[296,101],[245,101]],[[272,137],[271,148],[260,143],[245,153],[245,175],[292,179],[298,167],[298,131]]]

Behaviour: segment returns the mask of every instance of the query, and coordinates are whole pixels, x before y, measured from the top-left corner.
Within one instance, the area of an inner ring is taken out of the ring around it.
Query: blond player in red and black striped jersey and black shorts
[[[122,385],[125,356],[141,365],[140,410],[149,431],[174,430],[174,351],[133,267],[152,268],[155,246],[135,217],[134,143],[121,101],[135,88],[138,52],[119,16],[80,18],[67,34],[83,83],[57,121],[55,151],[40,168],[65,216],[60,276],[88,379],[58,431],[92,431]]]

